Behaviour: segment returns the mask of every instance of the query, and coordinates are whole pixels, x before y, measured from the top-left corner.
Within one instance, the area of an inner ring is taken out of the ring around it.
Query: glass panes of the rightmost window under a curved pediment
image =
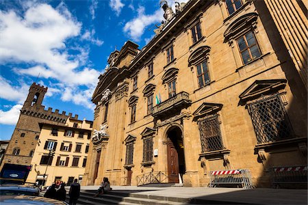
[[[250,61],[261,55],[259,45],[255,40],[255,34],[253,33],[253,31],[250,31],[246,33],[246,35],[238,38],[237,42],[244,64],[249,63]]]

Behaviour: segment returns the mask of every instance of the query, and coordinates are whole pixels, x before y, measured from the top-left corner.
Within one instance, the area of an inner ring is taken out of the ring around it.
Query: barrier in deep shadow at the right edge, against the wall
[[[307,184],[307,165],[272,167],[272,185],[279,188],[281,184]]]

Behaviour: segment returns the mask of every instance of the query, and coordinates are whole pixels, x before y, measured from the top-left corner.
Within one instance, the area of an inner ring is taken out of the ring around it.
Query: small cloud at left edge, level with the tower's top
[[[12,86],[10,81],[0,76],[0,98],[18,103],[25,102],[29,86],[22,83],[21,86]]]

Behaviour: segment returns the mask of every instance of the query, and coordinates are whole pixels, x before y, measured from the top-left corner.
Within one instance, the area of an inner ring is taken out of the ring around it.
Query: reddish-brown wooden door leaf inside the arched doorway
[[[179,183],[179,154],[168,138],[168,178],[170,183]]]

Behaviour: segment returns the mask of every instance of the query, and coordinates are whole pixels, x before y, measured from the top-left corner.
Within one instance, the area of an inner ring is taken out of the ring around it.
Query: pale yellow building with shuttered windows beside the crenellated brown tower
[[[46,186],[64,181],[68,184],[75,178],[82,181],[92,131],[92,121],[66,120],[65,125],[46,122],[40,124],[40,136],[31,160],[31,172],[27,182]]]

